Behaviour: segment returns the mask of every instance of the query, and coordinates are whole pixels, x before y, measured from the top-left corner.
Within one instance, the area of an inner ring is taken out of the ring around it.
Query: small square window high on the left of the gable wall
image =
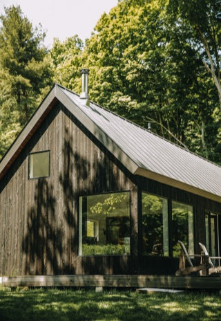
[[[29,154],[28,178],[50,176],[50,151]]]

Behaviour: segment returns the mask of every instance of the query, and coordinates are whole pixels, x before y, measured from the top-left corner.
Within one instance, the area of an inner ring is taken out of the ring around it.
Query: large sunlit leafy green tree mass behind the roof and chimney
[[[119,1],[84,47],[77,36],[55,41],[55,81],[80,93],[79,70],[88,67],[92,100],[144,127],[152,122],[157,134],[213,158],[213,84],[189,40],[193,28],[171,17],[166,0]]]

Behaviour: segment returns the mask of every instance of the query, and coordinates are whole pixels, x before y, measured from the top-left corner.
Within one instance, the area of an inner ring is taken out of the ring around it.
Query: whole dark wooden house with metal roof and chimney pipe
[[[87,80],[52,86],[1,159],[1,276],[145,286],[175,278],[178,240],[219,256],[221,167],[90,102]]]

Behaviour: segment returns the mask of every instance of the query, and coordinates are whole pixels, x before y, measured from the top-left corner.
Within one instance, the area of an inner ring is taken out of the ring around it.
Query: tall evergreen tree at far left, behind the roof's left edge
[[[35,111],[52,72],[41,26],[33,28],[19,6],[5,8],[0,20],[0,151],[5,151]]]

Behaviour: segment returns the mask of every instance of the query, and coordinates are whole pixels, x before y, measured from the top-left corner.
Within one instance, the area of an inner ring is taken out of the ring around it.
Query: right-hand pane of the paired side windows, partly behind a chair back
[[[182,241],[190,254],[194,253],[193,241],[193,206],[172,202],[172,244],[173,257],[180,257]]]

